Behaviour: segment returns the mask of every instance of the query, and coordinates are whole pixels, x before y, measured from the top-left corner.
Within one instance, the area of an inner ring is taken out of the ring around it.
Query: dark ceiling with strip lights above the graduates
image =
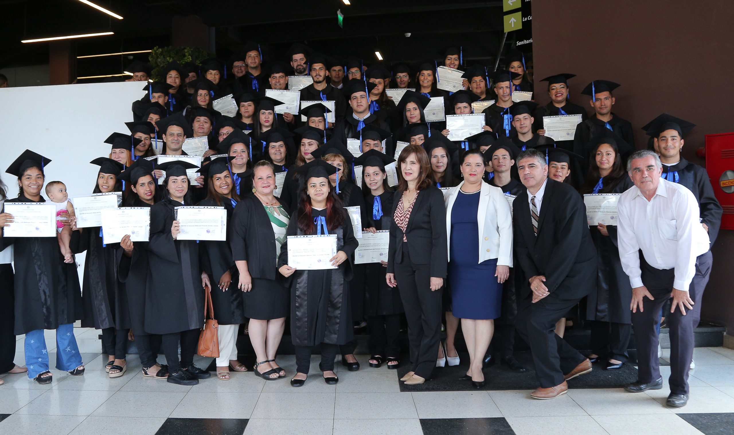
[[[264,45],[264,60],[282,56],[294,41],[326,54],[354,55],[374,62],[437,58],[440,48],[462,45],[469,63],[490,64],[500,48],[501,1],[419,0],[394,2],[352,0],[92,0],[124,17],[109,17],[77,0],[0,0],[0,68],[48,63],[47,43],[23,39],[65,34],[115,32],[75,40],[76,54],[148,50],[171,44],[175,16],[196,15],[214,29],[217,56],[227,59],[247,41]],[[336,11],[344,13],[344,29]],[[410,33],[410,37],[405,37]],[[512,38],[521,37],[510,34]],[[506,52],[506,50],[505,50]],[[504,54],[504,53],[503,53]],[[145,60],[146,54],[136,55]],[[79,59],[79,76],[120,73],[127,56]]]

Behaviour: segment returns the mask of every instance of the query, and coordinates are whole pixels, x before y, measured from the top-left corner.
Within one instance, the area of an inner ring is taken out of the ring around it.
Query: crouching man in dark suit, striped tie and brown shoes
[[[568,390],[568,379],[592,371],[589,359],[553,329],[594,288],[596,249],[584,200],[570,185],[548,179],[545,154],[523,151],[517,170],[527,190],[513,207],[515,253],[529,279],[520,288],[516,327],[533,352],[540,384],[531,397],[551,399]]]

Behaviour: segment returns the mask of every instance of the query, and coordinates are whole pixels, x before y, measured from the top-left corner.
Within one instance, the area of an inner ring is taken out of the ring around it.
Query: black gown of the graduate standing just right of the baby
[[[130,313],[125,284],[117,279],[120,244],[103,246],[100,227],[83,228],[75,231],[71,249],[75,254],[87,252],[82,278],[84,295],[83,328],[130,329]]]

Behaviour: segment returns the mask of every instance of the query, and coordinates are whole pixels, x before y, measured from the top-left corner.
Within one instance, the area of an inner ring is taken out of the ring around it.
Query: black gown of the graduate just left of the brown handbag
[[[170,334],[200,329],[204,324],[204,290],[196,241],[174,240],[174,208],[170,197],[150,208],[148,279],[145,286],[145,331]]]

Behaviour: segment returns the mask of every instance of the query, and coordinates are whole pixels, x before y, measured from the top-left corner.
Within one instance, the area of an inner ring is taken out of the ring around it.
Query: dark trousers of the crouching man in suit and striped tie
[[[556,322],[578,304],[580,299],[560,299],[551,293],[534,304],[528,296],[517,312],[517,332],[533,353],[535,374],[540,387],[556,387],[564,382],[564,373],[570,373],[586,359],[564,339],[556,335]]]

